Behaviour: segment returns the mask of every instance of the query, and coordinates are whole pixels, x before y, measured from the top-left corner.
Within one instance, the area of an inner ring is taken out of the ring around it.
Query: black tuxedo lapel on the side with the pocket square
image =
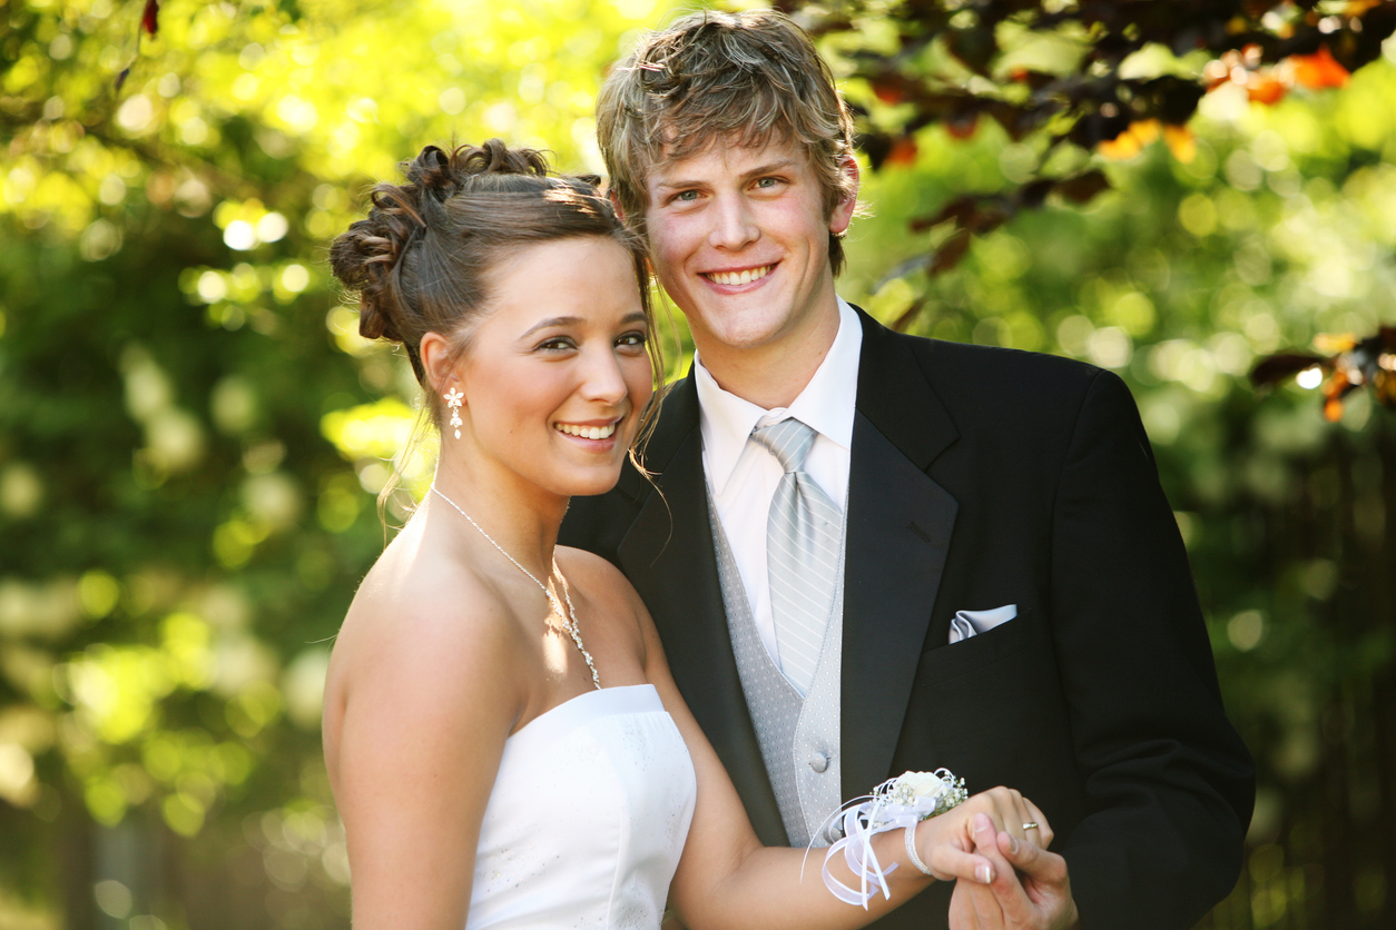
[[[867,315],[849,471],[843,795],[888,777],[959,505],[926,468],[958,436],[909,340]]]

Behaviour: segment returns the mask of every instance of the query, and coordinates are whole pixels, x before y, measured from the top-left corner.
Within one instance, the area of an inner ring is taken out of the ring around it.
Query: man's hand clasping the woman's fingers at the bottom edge
[[[956,881],[951,930],[1076,930],[1081,916],[1071,897],[1067,860],[1057,853],[995,832],[988,817],[974,817],[974,849],[994,864],[988,884]]]

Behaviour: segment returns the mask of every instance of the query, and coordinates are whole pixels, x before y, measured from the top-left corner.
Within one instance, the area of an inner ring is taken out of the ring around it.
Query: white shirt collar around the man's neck
[[[779,422],[786,417],[814,427],[842,449],[853,448],[853,413],[859,383],[859,354],[863,350],[863,326],[853,308],[839,297],[839,332],[819,363],[810,383],[789,407],[765,410],[718,386],[702,358],[694,357],[694,381],[698,388],[699,425],[704,462],[715,494],[722,494],[737,467],[747,438],[759,424]]]

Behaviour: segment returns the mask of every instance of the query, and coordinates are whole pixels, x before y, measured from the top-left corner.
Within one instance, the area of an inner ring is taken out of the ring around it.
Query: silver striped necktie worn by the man
[[[814,428],[799,420],[751,432],[785,468],[766,517],[766,567],[780,671],[801,694],[814,682],[829,623],[843,523],[838,505],[804,471],[814,436]]]

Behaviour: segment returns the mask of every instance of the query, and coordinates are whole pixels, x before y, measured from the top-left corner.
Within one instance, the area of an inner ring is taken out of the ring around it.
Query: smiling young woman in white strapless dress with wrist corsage
[[[667,899],[695,930],[856,927],[933,876],[987,881],[965,852],[977,814],[1047,825],[1002,788],[875,837],[899,867],[867,910],[824,887],[821,855],[801,880],[803,851],[759,845],[644,604],[556,547],[651,410],[642,247],[591,181],[497,139],[429,146],[405,174],[331,251],[360,332],[403,346],[441,427],[436,482],[359,588],[325,687],[355,926],[655,929]]]

